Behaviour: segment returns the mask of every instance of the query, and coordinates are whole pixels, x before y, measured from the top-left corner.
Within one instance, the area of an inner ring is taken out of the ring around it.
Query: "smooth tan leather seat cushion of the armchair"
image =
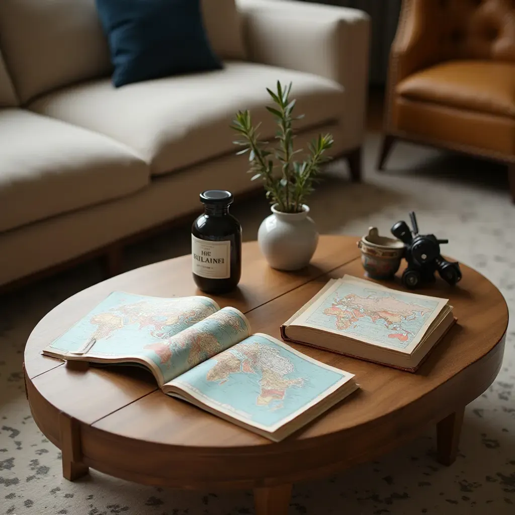
[[[396,92],[410,100],[515,117],[515,63],[448,61],[410,75]]]

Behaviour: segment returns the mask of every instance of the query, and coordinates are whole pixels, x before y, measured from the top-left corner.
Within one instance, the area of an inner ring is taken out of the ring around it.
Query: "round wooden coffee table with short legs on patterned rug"
[[[254,332],[279,338],[279,327],[331,277],[363,277],[356,237],[323,236],[312,265],[297,273],[270,269],[255,242],[244,244],[243,277],[234,293],[214,297],[246,313]],[[280,443],[165,396],[143,370],[72,368],[40,354],[113,290],[174,297],[197,294],[191,258],[156,263],[67,299],[37,325],[25,349],[27,397],[46,437],[62,450],[67,479],[92,467],[137,483],[178,488],[252,488],[256,513],[284,515],[291,484],[371,460],[437,425],[439,460],[456,456],[465,405],[501,367],[506,303],[481,274],[463,267],[448,297],[458,323],[416,374],[309,347],[302,352],[356,374],[361,390]],[[402,289],[400,281],[392,283]]]

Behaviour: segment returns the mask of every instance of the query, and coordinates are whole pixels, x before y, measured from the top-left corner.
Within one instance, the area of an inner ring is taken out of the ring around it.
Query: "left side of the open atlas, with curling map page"
[[[250,334],[238,310],[218,310],[207,297],[165,299],[115,291],[43,353],[143,362],[161,386]]]

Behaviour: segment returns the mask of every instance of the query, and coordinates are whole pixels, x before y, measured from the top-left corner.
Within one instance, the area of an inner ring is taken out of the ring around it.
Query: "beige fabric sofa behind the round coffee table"
[[[293,81],[299,143],[331,131],[358,175],[369,20],[287,0],[203,0],[221,71],[114,89],[94,0],[0,1],[0,285],[255,187],[229,123],[274,134],[266,87]]]

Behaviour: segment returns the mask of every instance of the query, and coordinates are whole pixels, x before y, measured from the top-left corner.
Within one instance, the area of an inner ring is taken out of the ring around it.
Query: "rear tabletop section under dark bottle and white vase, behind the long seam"
[[[247,312],[355,259],[359,255],[357,239],[351,237],[342,241],[341,236],[324,236],[310,266],[299,272],[289,273],[270,268],[262,258],[256,242],[245,243],[242,253],[242,279],[237,289],[223,297],[211,297],[220,307],[234,306]],[[50,311],[30,335],[25,348],[27,376],[36,377],[62,365],[59,359],[41,355],[41,350],[89,313],[112,291],[128,291],[156,297],[204,295],[197,289],[191,269],[191,256],[185,255],[136,268],[66,299]]]

